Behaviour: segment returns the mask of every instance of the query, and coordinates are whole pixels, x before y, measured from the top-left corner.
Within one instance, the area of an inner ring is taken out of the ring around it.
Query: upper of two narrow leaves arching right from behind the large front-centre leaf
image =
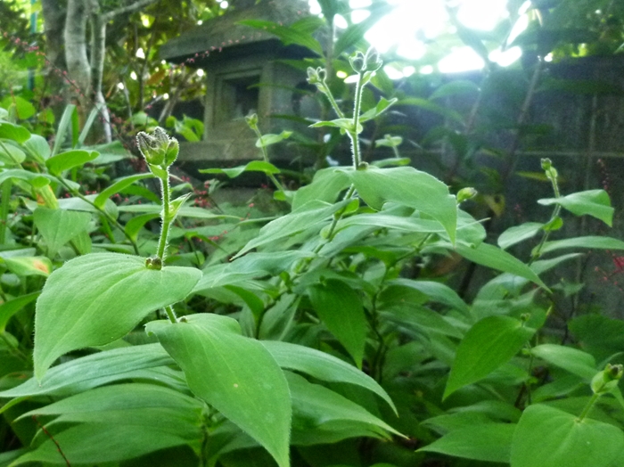
[[[317,380],[356,384],[382,397],[397,413],[392,399],[377,381],[374,381],[373,378],[355,366],[343,362],[340,358],[316,350],[316,348],[303,347],[290,342],[278,340],[262,340],[260,342],[275,358],[277,365],[282,368],[309,374]]]

